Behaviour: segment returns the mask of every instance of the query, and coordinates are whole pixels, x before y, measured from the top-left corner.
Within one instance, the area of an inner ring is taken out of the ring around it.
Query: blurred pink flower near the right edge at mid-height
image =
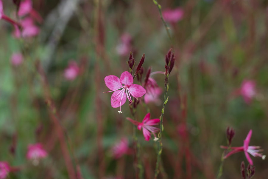
[[[240,93],[247,104],[249,104],[252,101],[252,98],[256,95],[255,86],[255,81],[251,80],[244,80],[241,84]]]

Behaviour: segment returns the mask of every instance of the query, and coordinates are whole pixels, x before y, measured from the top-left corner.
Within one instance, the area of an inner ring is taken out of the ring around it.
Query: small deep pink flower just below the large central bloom
[[[141,130],[141,128],[142,128],[142,132],[143,132],[145,141],[150,140],[150,138],[151,138],[150,132],[152,132],[152,134],[155,136],[154,141],[158,140],[155,133],[158,132],[160,129],[153,127],[153,126],[159,124],[160,120],[159,119],[150,119],[150,113],[148,113],[147,115],[144,116],[142,122],[135,121],[131,118],[127,118],[127,120],[129,120],[133,124],[137,125],[139,130]]]

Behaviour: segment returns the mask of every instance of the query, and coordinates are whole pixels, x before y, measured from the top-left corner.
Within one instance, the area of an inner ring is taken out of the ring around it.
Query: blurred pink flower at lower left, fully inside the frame
[[[26,155],[28,160],[39,160],[41,158],[45,158],[46,156],[47,152],[43,149],[41,143],[28,145],[28,152]]]

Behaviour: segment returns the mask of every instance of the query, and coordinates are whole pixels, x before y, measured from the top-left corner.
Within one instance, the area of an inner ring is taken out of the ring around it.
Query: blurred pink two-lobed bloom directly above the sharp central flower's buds
[[[131,48],[131,36],[128,33],[124,33],[121,36],[121,43],[116,47],[116,51],[119,55],[128,55]]]

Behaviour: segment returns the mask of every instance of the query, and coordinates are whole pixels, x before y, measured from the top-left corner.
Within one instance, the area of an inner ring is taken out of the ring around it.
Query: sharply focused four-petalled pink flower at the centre
[[[112,90],[107,92],[113,92],[111,96],[111,105],[114,108],[120,107],[125,104],[127,99],[132,104],[131,96],[134,98],[139,98],[146,93],[146,90],[138,84],[133,84],[133,77],[130,72],[123,72],[120,76],[120,79],[115,75],[109,75],[104,78],[106,86]],[[122,85],[124,84],[124,86]],[[119,91],[119,89],[123,88]]]

